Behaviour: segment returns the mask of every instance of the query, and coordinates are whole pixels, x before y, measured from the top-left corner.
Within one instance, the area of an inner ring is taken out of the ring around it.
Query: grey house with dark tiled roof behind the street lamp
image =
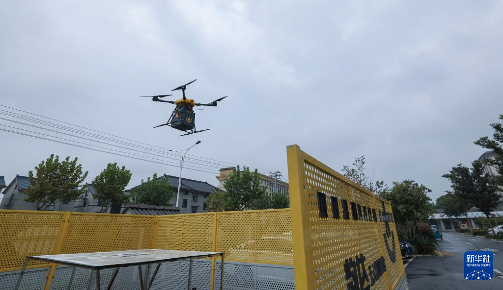
[[[163,176],[158,177],[157,179],[159,180],[162,177]],[[172,204],[170,208],[175,208],[177,202],[178,177],[169,176],[168,181],[173,186],[173,191],[175,192],[175,195],[170,200],[170,203]],[[129,191],[133,192],[137,187],[138,186],[135,186]],[[206,198],[214,191],[218,191],[218,188],[212,186],[208,182],[182,178],[178,204],[180,213],[207,212]]]

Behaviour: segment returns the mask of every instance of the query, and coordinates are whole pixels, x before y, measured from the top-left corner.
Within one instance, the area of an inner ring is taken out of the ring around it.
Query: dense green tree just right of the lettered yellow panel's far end
[[[393,182],[393,188],[382,194],[391,202],[398,234],[408,240],[415,236],[416,224],[426,221],[433,213],[429,188],[412,180]]]

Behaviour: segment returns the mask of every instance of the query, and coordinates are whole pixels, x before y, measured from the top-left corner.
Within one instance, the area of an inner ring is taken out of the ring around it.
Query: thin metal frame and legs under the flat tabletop
[[[223,253],[223,252],[217,252],[217,253],[214,253],[214,254],[205,254],[205,255],[201,255],[201,256],[191,256],[191,257],[183,257],[183,258],[170,258],[170,259],[165,259],[165,260],[157,260],[154,263],[149,263],[149,262],[131,262],[131,263],[121,264],[121,266],[107,265],[107,266],[99,266],[99,267],[98,266],[95,266],[95,267],[86,266],[86,265],[81,265],[81,264],[76,264],[76,263],[70,263],[70,262],[64,263],[62,261],[55,261],[55,260],[51,260],[51,259],[48,259],[48,258],[39,258],[39,257],[36,257],[36,256],[27,256],[26,259],[25,259],[25,263],[23,264],[23,268],[21,269],[21,273],[19,274],[18,282],[16,283],[16,287],[14,289],[15,290],[19,290],[19,286],[21,285],[21,280],[23,279],[23,275],[25,274],[26,267],[28,266],[28,262],[29,262],[30,259],[33,259],[33,260],[43,260],[43,261],[54,262],[54,263],[58,263],[58,264],[72,266],[70,281],[68,282],[68,287],[67,287],[68,290],[71,289],[71,285],[73,283],[73,278],[75,276],[75,270],[76,270],[77,267],[91,269],[91,275],[89,277],[88,290],[91,290],[92,287],[93,287],[93,278],[94,278],[95,275],[96,275],[96,290],[100,290],[101,289],[100,288],[100,286],[101,286],[100,285],[100,270],[113,268],[114,272],[112,273],[112,278],[110,279],[110,282],[108,283],[108,286],[106,287],[107,290],[110,290],[110,289],[112,289],[112,285],[113,285],[113,283],[115,281],[115,278],[117,277],[117,274],[119,273],[119,269],[120,268],[130,267],[130,266],[138,266],[138,274],[139,274],[139,280],[140,280],[141,290],[148,290],[148,289],[150,289],[150,286],[152,285],[152,283],[154,281],[155,275],[159,271],[160,265],[162,263],[164,263],[164,262],[174,262],[174,261],[180,261],[180,260],[189,260],[189,281],[187,283],[187,290],[191,290],[193,260],[194,259],[200,259],[200,258],[214,257],[214,256],[220,256],[221,257],[221,264],[220,264],[220,290],[223,290],[223,271],[224,271],[224,256],[225,256],[225,253]],[[151,266],[154,265],[154,264],[157,264],[157,265],[155,267],[154,272],[152,273],[152,277],[150,278],[149,276],[150,276]],[[146,265],[147,266],[144,275],[143,275],[142,269],[141,269],[142,265]],[[52,280],[51,280],[51,283],[52,283]],[[51,285],[49,285],[49,287],[50,286]]]

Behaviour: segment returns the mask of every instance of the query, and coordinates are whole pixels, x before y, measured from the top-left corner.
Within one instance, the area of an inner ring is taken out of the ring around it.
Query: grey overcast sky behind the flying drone
[[[0,39],[0,104],[173,150],[201,140],[190,153],[284,175],[289,144],[338,171],[365,155],[376,179],[412,179],[433,200],[503,113],[500,1],[10,1]],[[172,105],[138,96],[195,78],[197,102],[229,96],[197,111],[211,130],[152,128]],[[6,182],[51,153],[78,157],[88,182],[109,162],[130,186],[178,176],[5,131],[0,142]]]

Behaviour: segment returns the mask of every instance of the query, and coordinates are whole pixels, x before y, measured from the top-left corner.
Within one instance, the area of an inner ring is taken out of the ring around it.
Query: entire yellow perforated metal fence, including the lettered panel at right
[[[156,248],[295,265],[302,290],[406,289],[389,202],[298,146],[288,148],[288,171],[291,209],[167,216],[0,210],[0,272],[19,270],[28,255]],[[30,263],[47,266],[46,288],[55,265]]]

